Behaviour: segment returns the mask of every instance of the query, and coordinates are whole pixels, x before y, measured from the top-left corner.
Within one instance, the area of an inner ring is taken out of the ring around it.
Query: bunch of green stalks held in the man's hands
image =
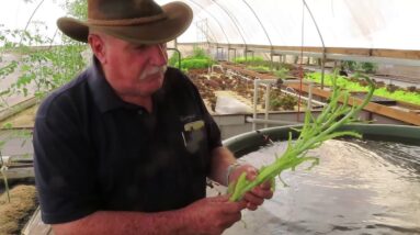
[[[334,72],[334,78],[337,71]],[[300,130],[297,130],[300,134],[295,142],[292,142],[292,134],[288,136],[288,144],[285,153],[282,156],[276,156],[276,160],[269,166],[262,167],[259,170],[257,178],[253,181],[247,180],[247,176],[243,172],[236,182],[230,183],[229,192],[230,201],[240,200],[246,192],[252,190],[258,184],[264,181],[271,181],[276,176],[281,179],[281,174],[284,170],[294,170],[297,166],[305,161],[311,161],[311,167],[319,163],[319,158],[306,156],[309,149],[316,148],[327,139],[331,139],[339,136],[353,136],[361,137],[356,132],[352,131],[337,131],[344,124],[354,122],[359,112],[370,102],[373,92],[375,90],[374,83],[370,78],[365,78],[370,83],[368,94],[365,97],[361,105],[348,107],[350,93],[340,89],[333,78],[333,90],[330,97],[330,103],[322,110],[321,114],[315,119],[309,109],[305,113],[305,122]],[[339,104],[339,101],[343,101]]]

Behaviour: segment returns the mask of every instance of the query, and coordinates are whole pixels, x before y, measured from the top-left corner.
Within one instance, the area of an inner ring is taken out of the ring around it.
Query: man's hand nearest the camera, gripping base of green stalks
[[[184,222],[191,234],[222,234],[241,219],[246,208],[247,202],[231,202],[228,195],[205,198],[183,209]]]

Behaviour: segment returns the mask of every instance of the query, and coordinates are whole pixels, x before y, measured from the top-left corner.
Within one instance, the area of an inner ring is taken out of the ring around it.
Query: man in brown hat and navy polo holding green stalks
[[[205,198],[206,177],[257,170],[236,165],[196,88],[166,67],[164,43],[192,21],[186,4],[89,0],[88,18],[58,27],[90,44],[93,65],[35,123],[42,217],[56,234],[220,234],[272,197],[265,183],[240,202]]]

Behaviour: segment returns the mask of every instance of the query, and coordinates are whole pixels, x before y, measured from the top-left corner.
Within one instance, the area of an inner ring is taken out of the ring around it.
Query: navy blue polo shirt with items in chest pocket
[[[121,100],[95,64],[38,109],[33,143],[43,221],[175,210],[204,198],[220,132],[190,79],[168,68],[149,113]]]

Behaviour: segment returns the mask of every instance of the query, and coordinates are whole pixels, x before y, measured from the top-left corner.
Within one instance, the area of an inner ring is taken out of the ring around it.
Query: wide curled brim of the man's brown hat
[[[181,35],[190,26],[193,12],[183,2],[170,2],[162,5],[162,9],[167,18],[147,24],[93,26],[72,18],[60,18],[57,26],[67,36],[84,43],[88,42],[90,27],[135,44],[166,43]]]

